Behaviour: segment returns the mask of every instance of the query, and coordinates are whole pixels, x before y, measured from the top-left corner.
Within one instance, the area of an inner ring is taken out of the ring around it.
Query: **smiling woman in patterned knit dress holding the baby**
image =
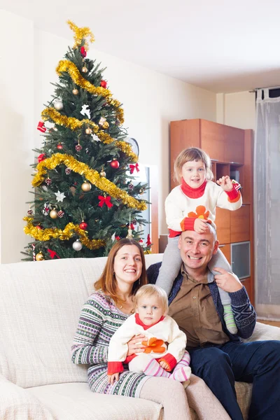
[[[116,380],[112,383],[107,377],[111,337],[127,320],[135,293],[146,283],[141,245],[134,239],[121,239],[111,248],[104,272],[94,284],[97,291],[83,305],[73,340],[72,361],[90,365],[87,377],[93,392],[152,400],[162,404],[165,419],[189,420],[191,415],[186,392],[179,381],[130,370],[118,373],[118,379],[114,378]],[[127,342],[125,358],[135,353],[144,354],[145,346],[141,342],[145,337],[138,334]],[[163,388],[166,388],[165,392],[162,392]],[[172,394],[172,399],[165,397],[167,393]]]

